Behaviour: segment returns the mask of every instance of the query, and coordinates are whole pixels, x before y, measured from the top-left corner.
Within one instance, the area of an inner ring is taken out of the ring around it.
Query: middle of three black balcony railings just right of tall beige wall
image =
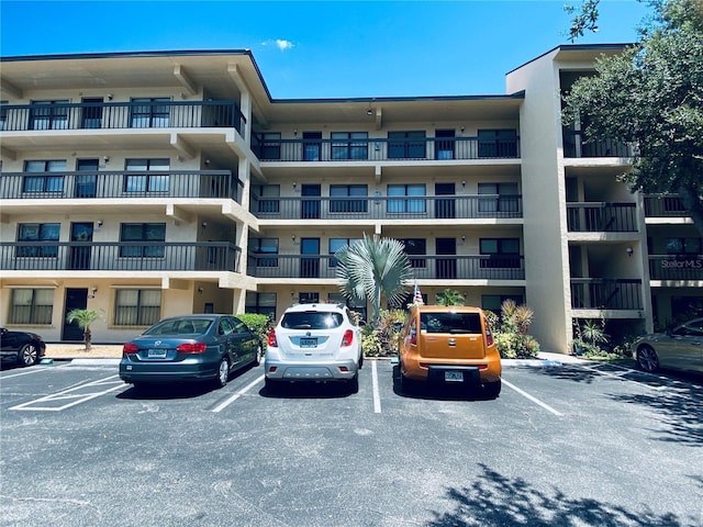
[[[635,203],[567,203],[567,224],[574,233],[637,232]]]

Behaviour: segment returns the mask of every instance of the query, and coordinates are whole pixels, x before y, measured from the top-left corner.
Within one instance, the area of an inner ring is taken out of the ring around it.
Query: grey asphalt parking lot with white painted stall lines
[[[496,400],[137,392],[104,361],[0,372],[0,525],[701,526],[703,382],[607,365],[514,367]]]

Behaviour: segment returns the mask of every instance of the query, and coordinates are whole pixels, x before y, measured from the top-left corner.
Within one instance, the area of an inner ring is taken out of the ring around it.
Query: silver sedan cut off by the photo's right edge
[[[635,340],[635,358],[645,371],[661,368],[703,372],[703,318]]]

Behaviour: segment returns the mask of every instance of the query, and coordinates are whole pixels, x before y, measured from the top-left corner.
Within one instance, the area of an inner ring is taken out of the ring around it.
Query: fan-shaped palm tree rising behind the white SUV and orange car
[[[381,296],[390,304],[399,305],[408,293],[408,282],[413,271],[405,254],[405,246],[392,238],[366,234],[352,245],[335,253],[338,260],[339,289],[347,299],[367,299],[372,306],[373,322],[381,312]]]

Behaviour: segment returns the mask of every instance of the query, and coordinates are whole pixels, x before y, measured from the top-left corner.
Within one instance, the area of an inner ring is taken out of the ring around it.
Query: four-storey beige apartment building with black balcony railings
[[[405,244],[426,302],[526,302],[547,350],[581,318],[624,334],[701,309],[678,200],[631,194],[628,147],[560,124],[560,90],[618,49],[559,46],[506,94],[348,100],[274,99],[248,51],[3,57],[0,324],[80,340],[66,314],[87,307],[122,343],[344,301],[334,253],[365,234]]]

